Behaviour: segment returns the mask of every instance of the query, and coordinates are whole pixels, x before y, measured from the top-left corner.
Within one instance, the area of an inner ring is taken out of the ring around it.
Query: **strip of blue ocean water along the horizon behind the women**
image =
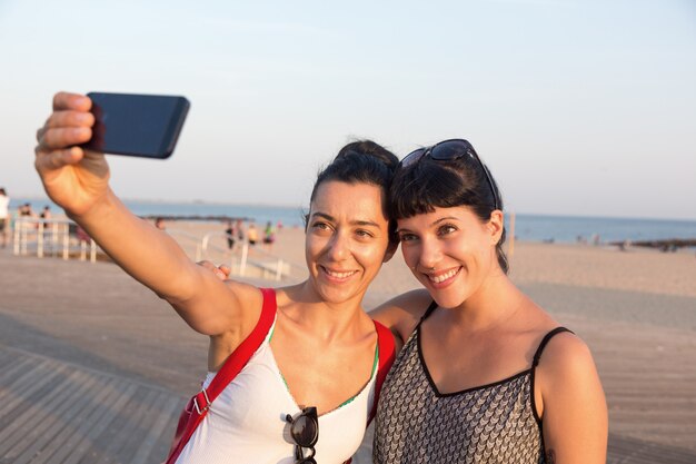
[[[31,203],[34,211],[44,205],[46,199],[12,198],[10,208]],[[139,216],[229,216],[247,218],[264,225],[267,221],[282,223],[288,227],[301,227],[305,210],[301,207],[225,205],[207,203],[158,203],[126,200],[126,205]],[[53,211],[59,208],[52,205]],[[509,216],[506,217],[508,234]],[[655,239],[696,239],[696,220],[634,219],[609,217],[546,216],[517,214],[515,237],[526,241],[591,243]]]

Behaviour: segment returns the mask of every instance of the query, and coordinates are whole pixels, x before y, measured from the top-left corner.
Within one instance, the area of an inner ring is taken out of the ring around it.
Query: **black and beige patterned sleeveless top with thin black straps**
[[[544,346],[560,332],[569,330],[558,327],[544,337],[529,369],[494,384],[439,394],[422,361],[419,324],[381,391],[375,464],[545,463],[541,421],[533,405],[534,372]]]

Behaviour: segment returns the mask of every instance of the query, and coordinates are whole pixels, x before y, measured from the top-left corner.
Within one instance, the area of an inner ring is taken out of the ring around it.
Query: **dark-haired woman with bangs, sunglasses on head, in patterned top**
[[[474,147],[411,152],[390,197],[425,288],[370,314],[402,345],[375,463],[604,464],[607,409],[589,349],[507,277],[503,200]]]

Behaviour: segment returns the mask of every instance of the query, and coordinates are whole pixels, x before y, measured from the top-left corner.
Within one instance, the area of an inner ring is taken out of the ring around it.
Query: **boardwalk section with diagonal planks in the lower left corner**
[[[165,460],[183,398],[0,345],[1,464]]]

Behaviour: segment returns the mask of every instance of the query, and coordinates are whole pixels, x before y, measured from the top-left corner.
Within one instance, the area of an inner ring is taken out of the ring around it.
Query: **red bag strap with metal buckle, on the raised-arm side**
[[[264,305],[261,306],[261,315],[259,322],[251,330],[251,334],[227,357],[220,371],[208,385],[208,388],[201,389],[196,396],[189,399],[179,417],[177,432],[175,433],[173,443],[169,451],[166,464],[173,464],[183,447],[190,440],[191,435],[208,414],[210,404],[220,393],[235,379],[237,374],[247,365],[253,353],[261,346],[268,330],[274,325],[276,318],[276,292],[272,288],[260,288],[264,295]]]

